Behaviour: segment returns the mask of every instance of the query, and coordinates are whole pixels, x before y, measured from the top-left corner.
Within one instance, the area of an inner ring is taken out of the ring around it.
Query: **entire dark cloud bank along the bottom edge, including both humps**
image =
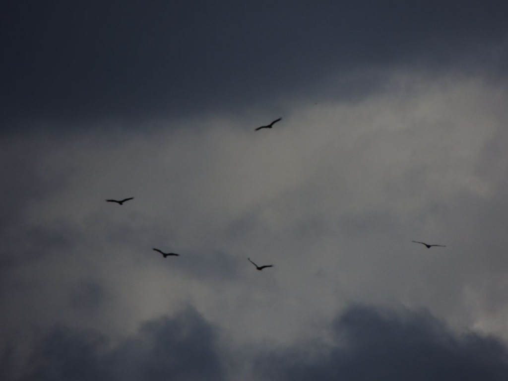
[[[278,348],[266,343],[238,348],[218,345],[216,328],[193,309],[144,323],[136,334],[114,343],[99,331],[59,326],[38,340],[22,374],[14,376],[15,351],[8,348],[0,374],[6,380],[24,381],[225,380],[239,374],[277,381],[497,381],[508,375],[503,343],[477,333],[454,332],[426,310],[355,305],[326,330],[331,332],[327,344],[314,337]],[[245,362],[252,366],[251,375],[242,370]]]

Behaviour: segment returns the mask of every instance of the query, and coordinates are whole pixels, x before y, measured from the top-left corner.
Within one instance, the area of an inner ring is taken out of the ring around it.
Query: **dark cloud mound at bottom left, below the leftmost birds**
[[[194,310],[144,324],[112,348],[99,332],[57,327],[34,348],[20,380],[219,380],[216,333]],[[4,362],[12,357],[6,352]]]

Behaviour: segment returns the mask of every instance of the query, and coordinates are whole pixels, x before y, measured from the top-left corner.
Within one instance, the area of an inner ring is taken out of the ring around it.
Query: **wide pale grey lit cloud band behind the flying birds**
[[[321,340],[350,302],[423,306],[453,329],[506,338],[505,84],[483,73],[387,73],[374,71],[384,85],[355,102],[287,101],[292,111],[266,134],[253,128],[270,107],[153,116],[132,130],[101,121],[5,134],[2,344],[33,353],[27,376],[42,377],[56,360],[43,356],[44,342],[33,350],[30,335],[58,324],[67,328],[54,331],[55,348],[82,348],[84,374],[116,376],[115,364],[132,353],[145,359],[155,346],[143,344],[149,333],[135,333],[142,322],[192,305],[233,343],[228,360],[239,364],[243,344]],[[358,83],[346,80],[352,89]],[[379,83],[365,80],[365,88]],[[130,196],[121,207],[104,201]],[[412,239],[447,247],[428,250]],[[165,260],[152,247],[181,257]],[[275,267],[256,271],[247,257]],[[410,336],[404,324],[412,317],[379,316]],[[433,328],[459,349],[474,346],[422,321],[413,326]],[[346,323],[338,330],[358,332]],[[321,350],[330,347],[315,346],[312,359]],[[2,372],[12,373],[13,353],[0,357]],[[166,366],[132,362],[133,374]]]

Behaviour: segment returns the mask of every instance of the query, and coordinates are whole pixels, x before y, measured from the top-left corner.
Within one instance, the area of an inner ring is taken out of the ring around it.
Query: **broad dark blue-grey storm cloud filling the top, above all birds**
[[[499,69],[506,11],[501,1],[4,2],[0,116],[185,114],[314,96],[330,75],[365,68]]]

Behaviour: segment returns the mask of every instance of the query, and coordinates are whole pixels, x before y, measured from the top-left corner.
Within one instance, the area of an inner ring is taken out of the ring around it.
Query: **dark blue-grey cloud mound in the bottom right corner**
[[[493,338],[459,336],[426,312],[356,306],[334,324],[328,351],[287,351],[258,365],[267,379],[505,380],[508,351]],[[317,354],[317,355],[316,355]]]

